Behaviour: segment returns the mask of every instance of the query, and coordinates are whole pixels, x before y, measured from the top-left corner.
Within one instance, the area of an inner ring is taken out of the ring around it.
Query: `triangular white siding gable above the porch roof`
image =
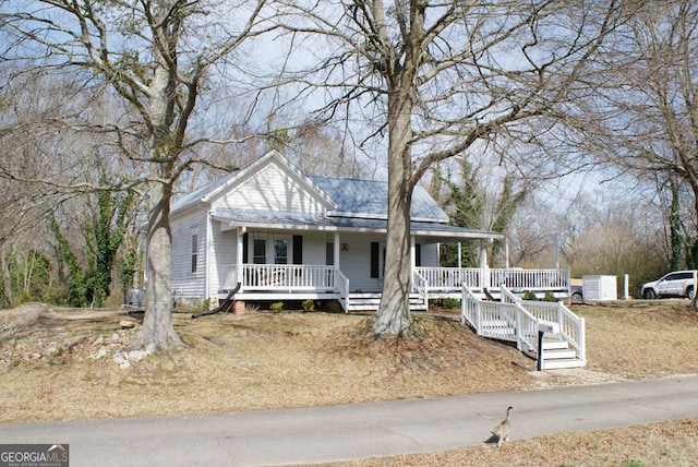
[[[266,166],[248,178],[215,201],[213,207],[308,214],[322,212],[317,200],[275,165]]]

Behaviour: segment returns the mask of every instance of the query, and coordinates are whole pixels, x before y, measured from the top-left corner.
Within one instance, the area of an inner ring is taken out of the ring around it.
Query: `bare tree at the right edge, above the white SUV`
[[[697,50],[695,2],[647,2],[610,48],[614,67],[589,99],[598,118],[588,128],[588,145],[604,161],[654,187],[659,197],[662,192],[671,197],[663,215],[673,267],[682,254],[698,258],[695,240],[682,253],[679,235],[695,239],[698,230]],[[691,215],[683,213],[684,204]]]

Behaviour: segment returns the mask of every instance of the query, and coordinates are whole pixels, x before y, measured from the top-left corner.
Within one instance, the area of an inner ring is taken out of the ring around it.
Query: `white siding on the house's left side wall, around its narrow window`
[[[196,272],[192,273],[192,236],[196,236]],[[172,220],[172,292],[203,298],[206,283],[206,212],[192,209]]]

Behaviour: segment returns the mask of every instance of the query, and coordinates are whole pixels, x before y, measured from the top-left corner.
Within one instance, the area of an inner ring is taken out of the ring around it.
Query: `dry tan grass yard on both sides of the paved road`
[[[27,303],[0,311],[0,423],[232,412],[698,372],[698,315],[686,301],[574,311],[587,323],[587,368],[535,376],[533,360],[443,316],[418,316],[419,339],[383,342],[366,337],[365,315],[191,320],[176,313],[186,347],[144,356],[129,347],[141,315]],[[341,465],[491,465],[497,456],[500,465],[690,465],[683,456],[698,458],[697,435],[698,420],[679,420],[517,441],[496,452],[482,446]]]

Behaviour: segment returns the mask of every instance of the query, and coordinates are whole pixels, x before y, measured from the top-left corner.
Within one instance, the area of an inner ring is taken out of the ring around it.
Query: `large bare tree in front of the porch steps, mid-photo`
[[[422,176],[466,149],[554,133],[625,13],[616,1],[551,0],[293,1],[279,10],[294,50],[318,59],[296,69],[310,60],[287,60],[284,71],[325,89],[325,115],[347,110],[347,125],[366,139],[386,134],[388,236],[374,333],[411,330],[410,204]],[[522,154],[508,156],[534,163]]]

